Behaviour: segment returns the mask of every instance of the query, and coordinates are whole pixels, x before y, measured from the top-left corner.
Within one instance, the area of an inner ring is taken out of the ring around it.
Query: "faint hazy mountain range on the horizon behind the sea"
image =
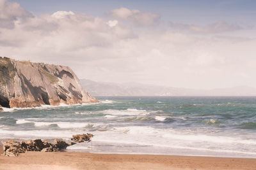
[[[256,88],[239,86],[226,89],[198,90],[142,83],[108,83],[81,79],[93,96],[256,96]]]

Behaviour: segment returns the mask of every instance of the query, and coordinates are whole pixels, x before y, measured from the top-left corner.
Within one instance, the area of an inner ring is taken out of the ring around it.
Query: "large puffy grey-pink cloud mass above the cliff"
[[[15,6],[10,8],[16,9]],[[13,22],[12,18],[9,18],[8,22]],[[72,11],[56,11],[51,15],[28,17],[26,21],[13,22],[12,29],[0,27],[0,32],[2,52],[19,55],[24,50],[27,56],[30,53],[38,58],[40,55],[52,57],[52,55],[72,53],[76,53],[79,57],[86,56],[83,54],[86,50],[111,46],[113,41],[121,39],[136,38],[131,27],[118,24],[117,20],[106,22],[99,17],[83,13],[76,14]],[[3,47],[9,49],[6,50]],[[93,56],[87,59],[93,59]]]

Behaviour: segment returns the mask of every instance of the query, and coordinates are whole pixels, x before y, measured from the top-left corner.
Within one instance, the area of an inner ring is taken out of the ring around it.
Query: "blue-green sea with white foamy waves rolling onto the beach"
[[[101,103],[8,109],[0,139],[70,139],[67,152],[256,158],[256,97],[97,97]]]

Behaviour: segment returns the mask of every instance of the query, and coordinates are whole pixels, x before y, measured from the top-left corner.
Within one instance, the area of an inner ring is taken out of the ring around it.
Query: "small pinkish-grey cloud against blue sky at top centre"
[[[129,20],[137,25],[149,26],[159,21],[160,16],[156,13],[141,12],[140,10],[129,10],[128,8],[118,8],[111,10],[114,18]]]

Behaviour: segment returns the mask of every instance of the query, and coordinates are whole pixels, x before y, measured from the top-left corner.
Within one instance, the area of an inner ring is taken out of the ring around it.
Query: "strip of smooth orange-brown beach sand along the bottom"
[[[1,147],[1,152],[3,148]],[[27,152],[0,156],[0,169],[255,169],[256,159],[119,155],[78,152]]]

